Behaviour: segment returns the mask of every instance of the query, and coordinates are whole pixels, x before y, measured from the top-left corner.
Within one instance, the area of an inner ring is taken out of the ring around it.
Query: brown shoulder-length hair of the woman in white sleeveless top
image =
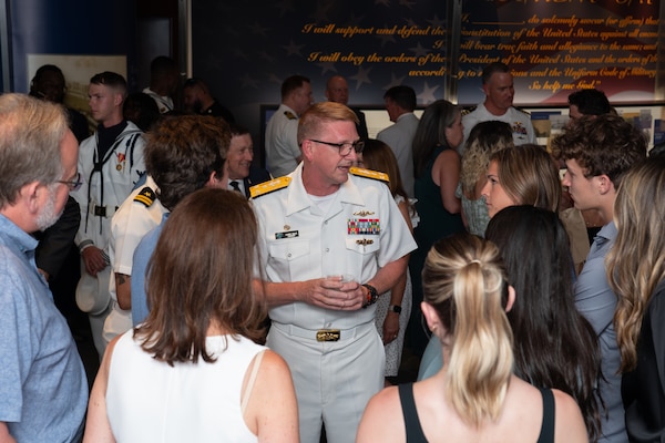
[[[185,197],[149,264],[151,310],[135,330],[143,350],[168,364],[212,362],[211,327],[260,340],[266,306],[252,288],[256,239],[254,212],[238,193],[204,188]]]

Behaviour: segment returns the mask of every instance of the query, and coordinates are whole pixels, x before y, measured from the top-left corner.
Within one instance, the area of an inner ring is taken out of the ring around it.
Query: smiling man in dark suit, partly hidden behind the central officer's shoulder
[[[249,198],[249,188],[272,179],[266,169],[252,166],[254,145],[249,131],[237,124],[231,124],[231,145],[226,154],[228,188],[238,190]]]

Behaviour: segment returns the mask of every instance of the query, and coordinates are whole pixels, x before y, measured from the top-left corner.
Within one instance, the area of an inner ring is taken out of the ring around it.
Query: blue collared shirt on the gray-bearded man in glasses
[[[0,215],[0,421],[19,442],[71,442],[81,436],[88,381],[35,248]]]

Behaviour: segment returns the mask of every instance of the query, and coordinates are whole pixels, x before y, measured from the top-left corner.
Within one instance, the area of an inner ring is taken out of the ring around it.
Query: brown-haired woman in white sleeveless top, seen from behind
[[[243,196],[202,189],[164,224],[146,279],[151,312],[108,348],[85,442],[298,442],[285,361],[256,344],[257,225]]]

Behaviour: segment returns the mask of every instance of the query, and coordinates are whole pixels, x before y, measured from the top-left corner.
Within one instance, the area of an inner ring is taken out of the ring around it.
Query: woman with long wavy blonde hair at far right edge
[[[665,157],[634,166],[614,202],[617,236],[607,281],[618,297],[614,329],[631,442],[665,440]]]

